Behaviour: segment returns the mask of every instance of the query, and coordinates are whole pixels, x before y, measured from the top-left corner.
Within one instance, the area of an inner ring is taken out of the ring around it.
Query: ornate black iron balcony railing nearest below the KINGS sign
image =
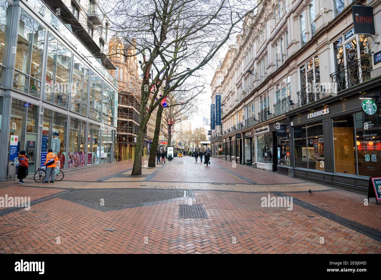
[[[342,91],[346,88],[350,88],[351,86],[369,80],[371,72],[372,60],[371,56],[367,55],[332,73],[332,83],[334,84],[337,92]]]

